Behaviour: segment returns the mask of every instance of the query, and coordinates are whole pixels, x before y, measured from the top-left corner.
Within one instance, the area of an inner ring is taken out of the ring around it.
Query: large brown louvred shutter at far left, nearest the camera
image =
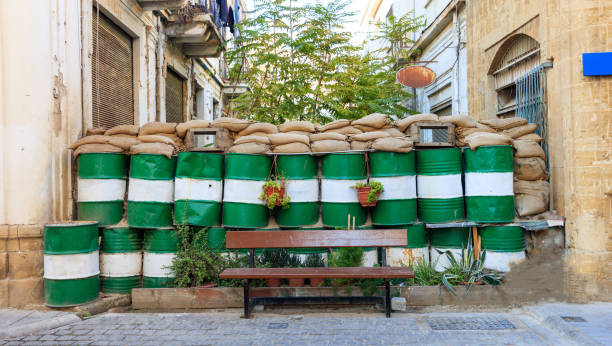
[[[132,38],[117,25],[92,13],[92,121],[94,127],[134,124]]]

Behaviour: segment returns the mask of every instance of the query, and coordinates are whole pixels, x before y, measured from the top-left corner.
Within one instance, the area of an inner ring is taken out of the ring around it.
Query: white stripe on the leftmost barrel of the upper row
[[[79,202],[123,201],[124,179],[78,179]]]

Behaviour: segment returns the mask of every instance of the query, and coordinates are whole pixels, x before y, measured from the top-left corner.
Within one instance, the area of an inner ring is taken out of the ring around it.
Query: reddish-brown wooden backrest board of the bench
[[[228,249],[407,246],[406,229],[231,231]]]

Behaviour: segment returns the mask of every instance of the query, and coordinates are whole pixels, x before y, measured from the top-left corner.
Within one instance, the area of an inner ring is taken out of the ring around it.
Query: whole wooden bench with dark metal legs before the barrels
[[[389,279],[412,278],[414,274],[405,267],[386,266],[386,248],[407,246],[406,230],[308,230],[308,231],[232,231],[227,232],[228,249],[250,249],[250,268],[224,270],[222,279],[244,280],[244,318],[250,317],[252,307],[257,304],[316,304],[382,303],[387,317],[391,316]],[[382,247],[381,267],[352,268],[255,268],[255,250],[261,248],[335,248],[335,247]],[[249,297],[249,280],[252,279],[383,279],[385,295],[374,297]]]

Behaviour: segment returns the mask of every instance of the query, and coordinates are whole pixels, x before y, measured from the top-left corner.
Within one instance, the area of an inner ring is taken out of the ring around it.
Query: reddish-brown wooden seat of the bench
[[[396,279],[413,278],[405,267],[348,268],[230,268],[221,279]]]

